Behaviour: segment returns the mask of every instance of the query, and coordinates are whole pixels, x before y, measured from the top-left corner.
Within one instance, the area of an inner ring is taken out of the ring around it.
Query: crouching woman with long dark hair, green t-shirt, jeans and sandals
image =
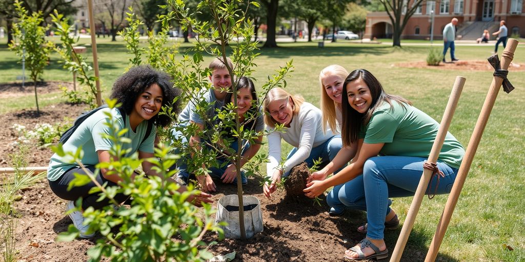
[[[388,256],[383,231],[399,225],[388,198],[414,195],[439,124],[403,97],[385,93],[379,81],[364,69],[348,75],[343,94],[343,146],[357,142],[358,151],[350,165],[328,179],[327,174],[350,159],[335,157],[312,173],[304,192],[313,198],[342,184],[329,196],[339,198],[348,208],[366,211],[367,218],[367,224],[358,227],[366,238],[346,250],[345,258],[382,259]],[[427,194],[450,192],[464,154],[463,146],[447,133],[437,161],[443,174],[429,182]]]

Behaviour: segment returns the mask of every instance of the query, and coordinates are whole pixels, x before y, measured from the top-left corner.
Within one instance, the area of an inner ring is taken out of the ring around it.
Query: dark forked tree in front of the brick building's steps
[[[392,46],[401,47],[401,33],[405,29],[408,19],[416,12],[416,9],[423,0],[414,0],[412,6],[408,7],[403,0],[380,0],[383,4],[388,17],[392,21],[393,35]]]

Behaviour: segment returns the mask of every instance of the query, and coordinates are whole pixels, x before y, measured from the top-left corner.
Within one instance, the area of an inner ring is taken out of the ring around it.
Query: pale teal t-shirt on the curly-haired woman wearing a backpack
[[[104,112],[110,112],[113,118],[117,119],[118,126],[120,129],[124,127],[124,121],[122,115],[117,108],[104,108],[95,112],[95,114],[89,116],[80,126],[75,130],[71,137],[66,141],[62,146],[64,151],[75,152],[77,148],[82,147],[83,156],[82,164],[86,166],[97,165],[99,163],[98,159],[98,150],[109,150],[113,145],[112,141],[106,138],[102,138],[100,134],[110,134],[109,127],[105,125],[106,115]],[[150,136],[144,140],[142,144],[141,141],[146,134],[148,129],[148,122],[142,121],[142,123],[137,126],[137,131],[133,132],[130,127],[129,115],[126,115],[126,126],[128,132],[124,134],[124,137],[127,137],[131,140],[130,144],[124,144],[124,148],[130,148],[131,150],[127,156],[132,155],[134,152],[153,152],[153,145],[155,143],[155,133],[156,128],[153,126]],[[47,179],[50,181],[56,181],[59,179],[62,174],[64,174],[70,168],[77,167],[75,164],[69,163],[69,159],[59,157],[57,154],[51,156],[49,160],[49,166],[47,169]]]

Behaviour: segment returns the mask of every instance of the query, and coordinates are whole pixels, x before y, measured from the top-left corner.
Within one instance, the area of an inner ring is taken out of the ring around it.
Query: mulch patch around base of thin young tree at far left
[[[73,83],[71,82],[61,82],[61,81],[46,81],[46,82],[37,82],[36,90],[38,94],[47,94],[53,92],[59,92],[60,86],[65,86],[66,88],[72,90]],[[26,82],[24,87],[22,87],[22,82],[12,82],[12,83],[2,83],[0,84],[0,99],[8,97],[18,97],[20,95],[34,94],[34,84],[33,82]]]

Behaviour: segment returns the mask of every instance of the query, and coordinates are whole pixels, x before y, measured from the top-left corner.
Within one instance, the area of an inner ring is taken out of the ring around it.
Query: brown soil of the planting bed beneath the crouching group
[[[75,117],[83,110],[85,108],[82,106],[59,104],[43,108],[45,113],[40,117],[35,117],[31,111],[21,111],[0,115],[0,121],[8,123],[8,126],[13,123],[26,126],[43,122],[54,124],[64,116]],[[3,132],[0,133],[0,139],[4,145],[16,139],[13,137],[15,132],[10,128],[0,131]],[[2,159],[12,151],[3,146],[0,151]],[[49,149],[34,148],[30,155],[31,165],[45,166],[49,156]],[[5,161],[2,166],[6,166]],[[331,217],[326,212],[328,206],[324,198],[322,205],[318,205],[310,199],[290,197],[285,190],[279,188],[272,194],[272,199],[267,199],[262,194],[261,178],[251,177],[248,181],[244,193],[260,200],[264,231],[246,242],[224,239],[209,248],[215,255],[224,255],[235,250],[237,256],[234,261],[341,261],[344,250],[365,237],[355,230],[365,220],[362,212],[347,211],[341,217]],[[215,206],[222,196],[235,194],[237,191],[234,185],[217,183],[218,192],[213,197]],[[55,241],[60,232],[67,231],[71,220],[64,215],[66,202],[50,191],[47,181],[41,181],[21,194],[22,199],[15,202],[15,208],[20,214],[16,228],[18,261],[86,261],[86,250],[101,237],[98,235],[72,242]],[[385,232],[385,241],[390,252],[400,231],[401,228]],[[413,235],[421,237],[415,232],[412,232],[411,236]],[[217,241],[217,235],[208,233],[204,240]],[[427,248],[408,242],[402,261],[422,261],[426,253]],[[439,256],[437,261],[454,260]]]

